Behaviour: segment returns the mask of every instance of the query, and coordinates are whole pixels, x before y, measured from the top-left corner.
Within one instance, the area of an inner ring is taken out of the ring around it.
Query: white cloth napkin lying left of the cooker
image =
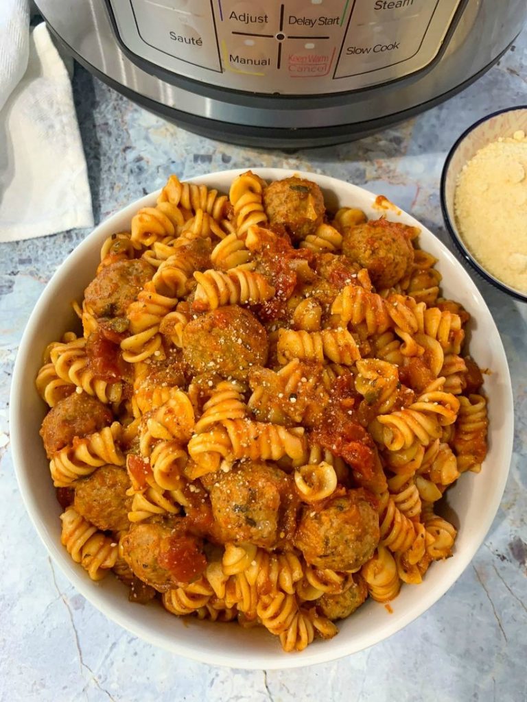
[[[93,226],[70,78],[27,0],[0,0],[0,241]]]

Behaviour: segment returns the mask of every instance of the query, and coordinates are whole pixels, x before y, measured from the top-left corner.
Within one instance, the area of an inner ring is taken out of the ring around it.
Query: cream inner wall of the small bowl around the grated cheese
[[[464,241],[460,236],[460,232],[457,229],[454,209],[454,195],[457,185],[457,178],[459,177],[463,166],[467,164],[468,161],[470,161],[470,159],[473,158],[476,153],[487,144],[497,141],[500,137],[511,137],[514,132],[519,130],[522,130],[527,134],[527,109],[525,107],[519,108],[518,110],[507,110],[506,112],[493,114],[492,117],[484,119],[479,124],[476,124],[475,127],[471,128],[471,130],[462,138],[462,140],[460,140],[455,152],[453,152],[452,156],[450,157],[448,170],[445,175],[443,198],[446,213],[448,215],[448,219],[450,220],[450,226],[453,227],[455,235],[458,241],[460,241],[465,254],[472,260],[475,260],[490,278],[499,282],[509,290],[512,290],[521,296],[525,296],[524,291],[517,290],[516,288],[507,285],[507,283],[488,272],[488,270],[486,270],[486,268],[479,263],[477,258],[474,257],[469,249],[467,249],[467,246],[465,246]]]

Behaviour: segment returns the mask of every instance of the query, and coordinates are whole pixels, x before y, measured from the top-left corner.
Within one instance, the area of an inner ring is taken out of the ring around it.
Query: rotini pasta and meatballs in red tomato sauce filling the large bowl
[[[62,543],[176,616],[337,634],[453,555],[438,510],[487,451],[469,314],[418,231],[250,171],[171,176],[103,244],[44,353]]]

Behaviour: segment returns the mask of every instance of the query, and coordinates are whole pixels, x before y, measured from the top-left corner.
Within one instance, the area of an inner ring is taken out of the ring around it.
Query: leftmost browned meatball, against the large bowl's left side
[[[61,399],[42,422],[40,435],[48,458],[71,444],[74,437],[85,437],[112,423],[112,413],[107,406],[86,392],[73,392]]]

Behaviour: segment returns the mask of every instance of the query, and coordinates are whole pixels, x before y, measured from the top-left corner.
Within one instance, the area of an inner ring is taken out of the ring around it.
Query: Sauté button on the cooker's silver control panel
[[[214,20],[203,13],[204,2],[193,0],[131,0],[138,33],[148,46],[193,65],[221,69]],[[190,11],[192,8],[192,12]],[[197,14],[202,13],[202,14]]]

